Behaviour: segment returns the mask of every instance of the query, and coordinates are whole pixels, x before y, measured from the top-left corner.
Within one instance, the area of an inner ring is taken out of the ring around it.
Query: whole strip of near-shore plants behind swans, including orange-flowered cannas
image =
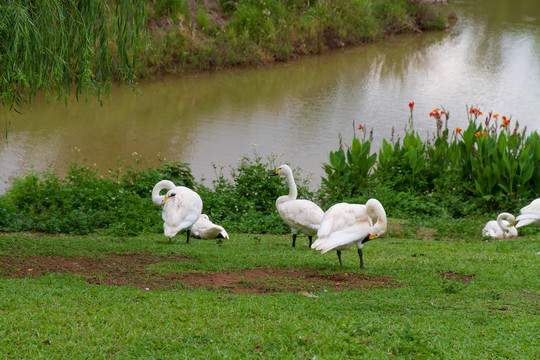
[[[368,129],[358,126],[350,145],[329,152],[321,186],[289,163],[299,198],[323,210],[339,202],[363,204],[378,199],[404,226],[437,229],[435,238],[480,238],[480,229],[500,212],[517,213],[540,193],[540,138],[527,134],[505,115],[467,111],[466,129],[448,126],[449,114],[434,109],[434,134],[423,140],[413,128],[414,103],[403,137],[383,140],[371,150]],[[142,158],[101,175],[84,161],[74,162],[65,178],[52,171],[16,178],[0,195],[0,231],[135,236],[161,233],[161,211],[151,191],[160,180],[195,190],[203,212],[227,232],[286,234],[289,229],[274,203],[287,192],[284,178],[269,174],[286,159],[256,153],[244,156],[230,176],[214,165],[210,186],[195,181],[189,164],[162,162],[142,168]],[[412,230],[411,230],[412,231]],[[534,232],[520,229],[520,235]]]

